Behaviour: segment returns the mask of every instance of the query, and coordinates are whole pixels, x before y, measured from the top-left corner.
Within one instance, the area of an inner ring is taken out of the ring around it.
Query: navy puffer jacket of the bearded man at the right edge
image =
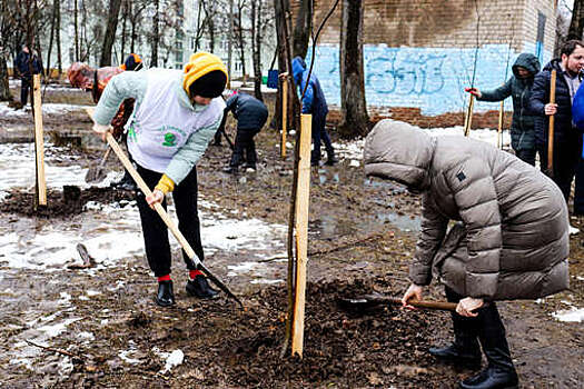
[[[560,62],[560,59],[550,61],[533,81],[529,109],[534,114],[537,114],[535,142],[538,147],[547,144],[548,117],[544,112],[544,107],[550,102],[550,82],[553,69],[557,73],[555,87],[557,113],[554,119],[554,142],[577,141],[577,131],[572,128],[572,98]]]

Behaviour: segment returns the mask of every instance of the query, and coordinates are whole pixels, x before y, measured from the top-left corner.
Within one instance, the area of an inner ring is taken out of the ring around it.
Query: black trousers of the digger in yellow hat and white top
[[[154,189],[162,173],[151,171],[138,166],[138,172],[146,181],[148,188]],[[197,211],[197,169],[192,168],[190,173],[172,191],[172,199],[177,209],[178,229],[189,245],[195,250],[197,257],[202,260],[202,243],[200,240],[200,222]],[[154,209],[146,202],[146,197],[141,191],[136,196],[138,209],[140,211],[140,221],[142,223],[143,242],[146,247],[146,257],[150,269],[156,277],[162,277],[170,273],[170,243],[168,240],[168,229]],[[166,200],[162,202],[166,209]],[[187,253],[182,251],[182,258],[187,263],[187,269],[195,270],[192,262]]]

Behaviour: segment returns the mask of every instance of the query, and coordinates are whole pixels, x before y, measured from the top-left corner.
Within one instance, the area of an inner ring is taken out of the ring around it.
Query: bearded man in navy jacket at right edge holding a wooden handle
[[[560,187],[567,202],[572,180],[582,152],[582,137],[572,122],[572,101],[582,81],[584,68],[584,42],[568,40],[564,43],[561,58],[553,59],[535,76],[529,108],[538,114],[535,121],[535,139],[540,149],[541,168],[552,177]],[[555,103],[550,102],[550,83],[552,70],[555,69]],[[554,121],[554,160],[553,171],[547,171],[547,131],[550,116]],[[571,232],[575,232],[572,230]]]

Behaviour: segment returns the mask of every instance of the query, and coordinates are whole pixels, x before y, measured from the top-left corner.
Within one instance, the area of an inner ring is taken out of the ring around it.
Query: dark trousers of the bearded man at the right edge
[[[575,131],[575,130],[574,130]],[[573,137],[554,142],[554,174],[552,179],[560,187],[564,199],[570,199],[572,180],[576,173],[576,168],[581,159],[582,137],[574,132]],[[541,169],[547,172],[547,144],[540,148]]]

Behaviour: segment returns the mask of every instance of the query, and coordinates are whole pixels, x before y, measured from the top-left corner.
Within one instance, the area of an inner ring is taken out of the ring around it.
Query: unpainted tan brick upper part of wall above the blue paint
[[[315,0],[318,26],[335,0]],[[293,10],[298,1],[293,1]],[[545,50],[553,51],[554,0],[365,0],[364,43],[388,47],[474,48],[508,44],[522,50],[535,42],[537,11],[546,16]],[[323,30],[319,43],[339,43],[340,3]]]

